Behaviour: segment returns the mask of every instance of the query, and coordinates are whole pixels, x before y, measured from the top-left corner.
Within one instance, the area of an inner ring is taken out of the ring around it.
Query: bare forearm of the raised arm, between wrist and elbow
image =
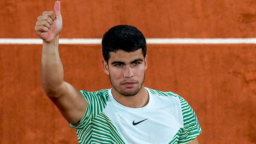
[[[63,66],[59,56],[59,36],[51,43],[43,41],[41,58],[41,82],[48,96],[57,96],[56,92],[63,84]]]

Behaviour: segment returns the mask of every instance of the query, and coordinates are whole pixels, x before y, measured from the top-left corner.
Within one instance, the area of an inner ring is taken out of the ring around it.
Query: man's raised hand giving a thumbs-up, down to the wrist
[[[36,33],[46,43],[51,43],[62,30],[62,17],[60,14],[60,2],[56,1],[53,11],[45,11],[37,18]]]

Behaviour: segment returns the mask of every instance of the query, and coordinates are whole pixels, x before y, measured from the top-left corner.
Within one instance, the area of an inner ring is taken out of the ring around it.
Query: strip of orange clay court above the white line
[[[2,0],[1,38],[38,38],[35,21],[54,1]],[[253,0],[61,1],[62,38],[101,38],[114,25],[138,27],[147,38],[256,37]]]

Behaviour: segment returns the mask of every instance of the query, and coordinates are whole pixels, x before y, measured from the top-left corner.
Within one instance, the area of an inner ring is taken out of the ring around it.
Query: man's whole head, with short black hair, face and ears
[[[121,95],[133,96],[141,90],[147,69],[146,51],[145,37],[133,26],[115,26],[104,34],[104,72]]]

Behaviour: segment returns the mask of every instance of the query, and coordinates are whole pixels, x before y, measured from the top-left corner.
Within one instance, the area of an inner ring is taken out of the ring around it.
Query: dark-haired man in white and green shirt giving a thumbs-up
[[[112,88],[96,92],[77,91],[63,80],[60,2],[54,12],[38,17],[35,30],[43,39],[42,86],[80,144],[198,144],[202,131],[188,103],[172,92],[144,87],[146,41],[137,28],[119,25],[104,34],[102,63]]]

